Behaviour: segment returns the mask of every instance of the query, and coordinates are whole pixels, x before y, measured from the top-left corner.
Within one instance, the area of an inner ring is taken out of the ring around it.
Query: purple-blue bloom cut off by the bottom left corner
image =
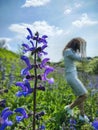
[[[8,120],[8,117],[12,115],[13,112],[9,110],[9,108],[5,108],[0,115],[0,130],[4,130],[7,126],[11,126],[13,123],[12,121]]]

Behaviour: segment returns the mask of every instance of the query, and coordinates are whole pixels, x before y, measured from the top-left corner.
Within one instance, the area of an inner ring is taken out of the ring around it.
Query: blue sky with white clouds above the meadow
[[[29,27],[48,35],[48,56],[62,59],[73,37],[87,41],[87,56],[98,56],[98,0],[0,0],[0,42],[17,51]]]

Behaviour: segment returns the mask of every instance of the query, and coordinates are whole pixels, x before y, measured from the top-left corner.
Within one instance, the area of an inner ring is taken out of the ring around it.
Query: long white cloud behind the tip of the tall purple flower
[[[21,36],[27,35],[27,27],[30,28],[34,33],[38,31],[40,34],[46,34],[48,36],[60,35],[64,33],[62,29],[55,26],[50,26],[46,21],[36,21],[33,24],[12,24],[9,29],[17,32]]]

